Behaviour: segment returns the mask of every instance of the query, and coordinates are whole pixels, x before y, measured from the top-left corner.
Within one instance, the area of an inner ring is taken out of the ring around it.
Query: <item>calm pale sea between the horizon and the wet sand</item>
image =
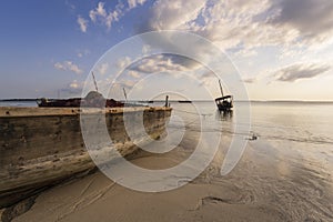
[[[242,109],[245,104],[238,103]],[[163,105],[153,103],[153,105]],[[194,107],[196,105],[196,108]],[[178,103],[172,102],[173,114],[184,118],[192,125],[200,124],[198,113],[212,129],[223,125],[230,132],[236,124],[235,112],[221,114],[213,102]],[[0,101],[0,107],[37,107],[34,101]],[[291,140],[309,143],[333,144],[333,103],[317,102],[252,102],[251,120],[238,124],[251,124],[255,135],[265,139]],[[196,125],[199,127],[199,125]]]

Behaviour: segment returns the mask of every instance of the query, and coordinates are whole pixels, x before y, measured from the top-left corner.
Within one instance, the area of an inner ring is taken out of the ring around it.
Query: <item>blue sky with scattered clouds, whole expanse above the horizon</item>
[[[135,99],[168,91],[219,97],[216,77],[201,61],[153,54],[137,36],[174,30],[219,48],[250,100],[333,101],[332,0],[6,0],[0,30],[0,99],[78,97],[91,85],[91,71],[100,89],[118,85],[107,94],[115,99],[121,88]],[[123,43],[129,38],[141,41]],[[159,41],[175,48],[168,38]],[[113,57],[117,46],[123,50]],[[210,54],[199,43],[186,49]],[[223,88],[233,93],[234,85]]]

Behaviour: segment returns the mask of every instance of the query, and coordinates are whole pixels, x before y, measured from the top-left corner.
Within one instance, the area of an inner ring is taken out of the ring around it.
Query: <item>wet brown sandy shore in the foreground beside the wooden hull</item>
[[[251,141],[238,167],[221,176],[226,142],[199,178],[161,193],[125,189],[98,171],[43,192],[13,221],[333,221],[332,149],[315,145],[325,158],[312,157],[306,145]],[[132,162],[160,169],[178,157],[139,153]]]

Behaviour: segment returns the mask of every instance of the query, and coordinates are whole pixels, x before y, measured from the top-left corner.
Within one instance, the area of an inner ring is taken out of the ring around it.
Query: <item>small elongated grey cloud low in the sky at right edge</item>
[[[329,71],[327,64],[305,64],[297,63],[280,69],[274,74],[274,80],[283,82],[294,82],[300,79],[310,79]]]

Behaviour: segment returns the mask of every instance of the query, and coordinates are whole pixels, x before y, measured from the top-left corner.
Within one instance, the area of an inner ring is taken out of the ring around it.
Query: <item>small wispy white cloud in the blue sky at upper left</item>
[[[89,11],[89,17],[92,22],[100,22],[101,24],[107,26],[107,28],[110,29],[112,23],[119,21],[120,17],[123,16],[123,4],[121,2],[118,3],[115,6],[115,9],[109,12],[105,10],[104,4],[104,2],[99,2],[95,9]]]

